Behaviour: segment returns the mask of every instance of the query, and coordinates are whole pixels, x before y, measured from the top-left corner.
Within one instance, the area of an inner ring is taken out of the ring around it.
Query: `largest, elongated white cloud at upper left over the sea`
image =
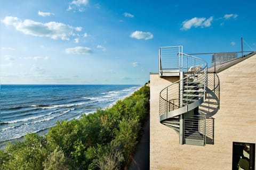
[[[17,17],[6,16],[2,22],[5,25],[12,25],[16,30],[37,37],[50,37],[52,39],[69,40],[74,36],[74,31],[81,31],[82,27],[71,27],[60,22],[41,23],[33,20],[20,20]]]

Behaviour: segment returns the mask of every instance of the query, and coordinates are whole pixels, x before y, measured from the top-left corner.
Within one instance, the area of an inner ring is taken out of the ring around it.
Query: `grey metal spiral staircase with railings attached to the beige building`
[[[159,76],[179,77],[159,94],[159,120],[179,134],[180,145],[206,143],[206,116],[198,107],[207,91],[207,63],[182,46],[159,48]]]

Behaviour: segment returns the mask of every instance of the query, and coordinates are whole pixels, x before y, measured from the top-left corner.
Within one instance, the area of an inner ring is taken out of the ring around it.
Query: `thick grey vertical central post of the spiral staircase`
[[[183,105],[183,72],[180,71],[180,107]],[[184,115],[179,115],[179,121],[180,121],[180,145],[184,144]]]

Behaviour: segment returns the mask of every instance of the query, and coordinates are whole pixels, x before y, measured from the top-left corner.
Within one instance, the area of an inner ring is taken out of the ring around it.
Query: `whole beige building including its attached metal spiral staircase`
[[[214,72],[182,46],[160,48],[159,72],[150,73],[150,169],[254,169],[255,65],[254,52]]]

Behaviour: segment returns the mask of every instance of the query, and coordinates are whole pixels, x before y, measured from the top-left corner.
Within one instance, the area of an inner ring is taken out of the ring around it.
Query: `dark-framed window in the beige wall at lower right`
[[[255,168],[255,143],[233,142],[233,170],[253,170]]]

